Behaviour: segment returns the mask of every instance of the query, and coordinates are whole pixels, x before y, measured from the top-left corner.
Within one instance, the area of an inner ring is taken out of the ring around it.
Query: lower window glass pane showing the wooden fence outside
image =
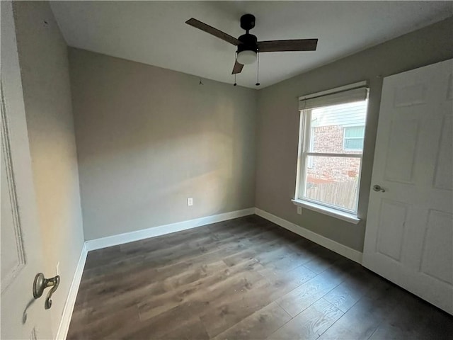
[[[304,198],[355,210],[360,158],[309,156]]]

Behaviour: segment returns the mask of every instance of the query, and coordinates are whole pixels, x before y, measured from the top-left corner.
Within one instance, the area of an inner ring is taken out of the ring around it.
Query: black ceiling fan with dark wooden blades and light
[[[255,27],[255,16],[252,14],[241,16],[241,28],[246,30],[246,34],[241,35],[237,39],[195,18],[190,18],[185,23],[238,47],[236,62],[231,74],[241,73],[243,65],[253,64],[257,59],[258,52],[315,51],[318,44],[318,39],[258,41],[256,35],[248,33],[249,30]]]

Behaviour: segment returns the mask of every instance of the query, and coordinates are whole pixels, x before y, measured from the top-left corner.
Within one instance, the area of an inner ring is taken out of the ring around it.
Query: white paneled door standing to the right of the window
[[[453,60],[384,79],[363,265],[453,314]]]

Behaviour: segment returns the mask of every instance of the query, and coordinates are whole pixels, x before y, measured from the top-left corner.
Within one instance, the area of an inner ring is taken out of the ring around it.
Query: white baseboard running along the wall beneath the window
[[[313,241],[320,246],[330,249],[331,251],[335,251],[337,254],[340,254],[352,261],[362,264],[363,253],[361,253],[360,251],[335,242],[331,239],[328,239],[327,237],[323,237],[320,234],[316,234],[316,232],[311,232],[311,230],[305,229],[304,227],[301,227],[299,225],[295,225],[292,222],[283,220],[282,218],[272,215],[270,212],[267,212],[265,210],[255,208],[255,213],[256,215],[263,217],[266,220],[275,223],[276,225],[280,225],[280,227],[288,229],[290,232],[294,232],[295,234],[305,237],[306,239],[309,239],[310,241]]]

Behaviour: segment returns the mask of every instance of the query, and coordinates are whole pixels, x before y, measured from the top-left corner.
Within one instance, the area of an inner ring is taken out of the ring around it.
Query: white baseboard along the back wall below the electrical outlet
[[[196,218],[195,220],[176,222],[169,225],[160,225],[159,227],[151,227],[148,229],[137,230],[135,232],[126,232],[124,234],[101,237],[100,239],[90,239],[86,241],[86,247],[88,251],[91,251],[106,248],[108,246],[117,246],[118,244],[125,244],[129,242],[139,241],[140,239],[148,239],[149,237],[171,234],[172,232],[180,232],[186,229],[201,227],[202,225],[210,225],[211,223],[231,220],[236,217],[253,215],[254,213],[255,208],[248,208],[243,210],[224,212],[223,214],[219,215],[200,217]]]

